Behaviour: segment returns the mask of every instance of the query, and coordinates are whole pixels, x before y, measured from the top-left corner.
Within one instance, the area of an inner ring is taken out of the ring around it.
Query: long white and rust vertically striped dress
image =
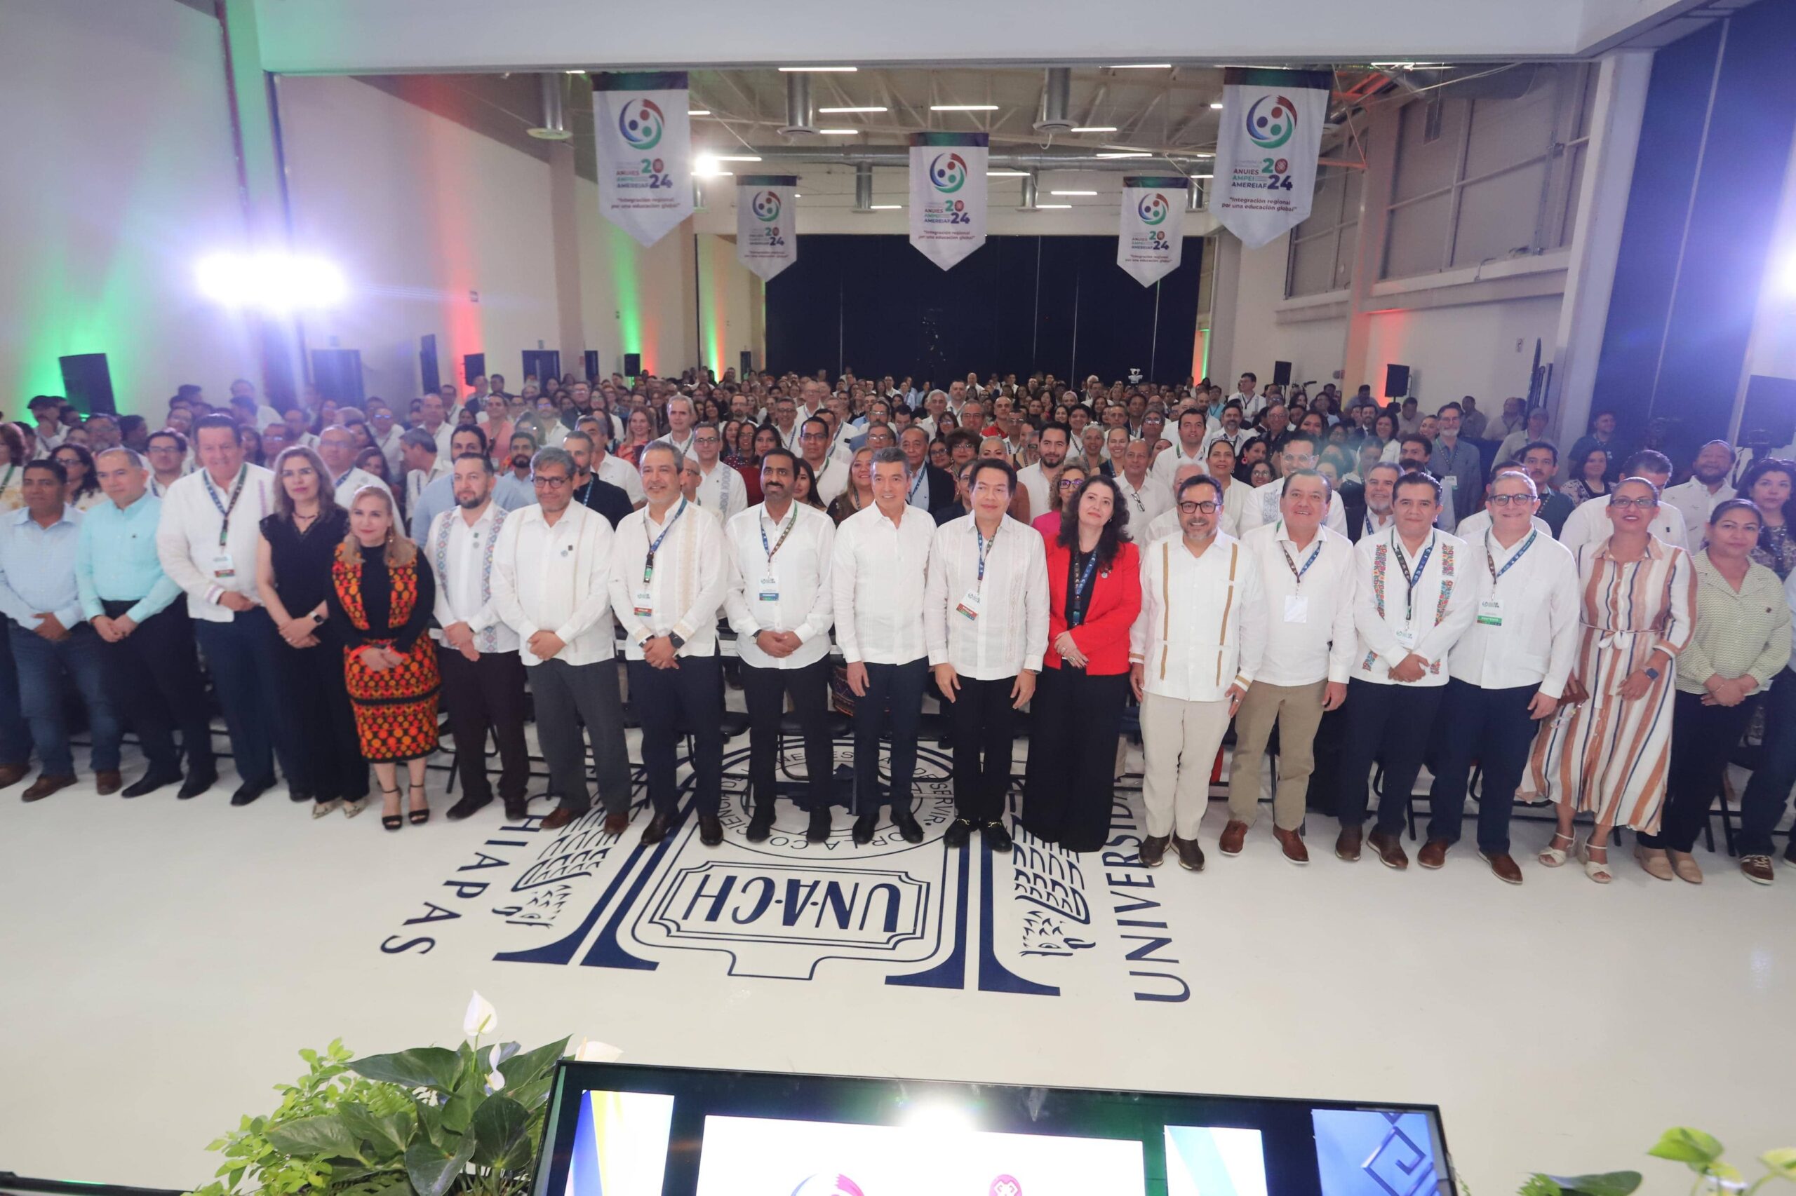
[[[1589,690],[1561,706],[1534,740],[1523,801],[1575,803],[1598,826],[1658,833],[1672,745],[1676,657],[1690,643],[1695,567],[1690,553],[1647,537],[1640,560],[1611,560],[1609,541],[1579,550],[1582,630],[1573,675]],[[1645,697],[1624,700],[1622,681],[1656,648],[1672,655]]]

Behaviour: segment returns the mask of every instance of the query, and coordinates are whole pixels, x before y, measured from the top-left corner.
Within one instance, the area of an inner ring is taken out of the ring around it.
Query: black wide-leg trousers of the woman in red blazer
[[[1097,851],[1110,837],[1117,736],[1128,673],[1043,668],[1029,702],[1029,765],[1022,824],[1069,851]]]

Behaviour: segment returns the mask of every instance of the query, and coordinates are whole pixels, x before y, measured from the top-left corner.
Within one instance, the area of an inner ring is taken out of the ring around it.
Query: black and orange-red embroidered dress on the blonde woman
[[[356,709],[361,754],[399,761],[436,751],[436,648],[424,634],[436,580],[422,557],[388,567],[386,546],[363,548],[359,564],[330,564],[330,623],[343,643],[343,681]],[[393,648],[397,668],[363,663],[368,648]]]

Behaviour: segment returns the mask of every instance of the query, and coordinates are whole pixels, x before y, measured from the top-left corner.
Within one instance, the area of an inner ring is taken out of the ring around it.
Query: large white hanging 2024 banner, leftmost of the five
[[[598,208],[641,244],[691,215],[686,74],[593,75]]]

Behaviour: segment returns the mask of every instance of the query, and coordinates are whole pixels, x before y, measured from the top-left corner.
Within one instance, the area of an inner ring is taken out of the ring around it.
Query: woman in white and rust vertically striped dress
[[[1559,833],[1541,864],[1566,862],[1572,819],[1589,813],[1595,828],[1577,857],[1597,884],[1615,878],[1609,831],[1656,833],[1665,803],[1674,663],[1690,641],[1695,571],[1690,553],[1649,532],[1658,510],[1658,488],[1629,478],[1609,499],[1609,539],[1579,550],[1577,666],[1528,758],[1528,788],[1559,806]]]

